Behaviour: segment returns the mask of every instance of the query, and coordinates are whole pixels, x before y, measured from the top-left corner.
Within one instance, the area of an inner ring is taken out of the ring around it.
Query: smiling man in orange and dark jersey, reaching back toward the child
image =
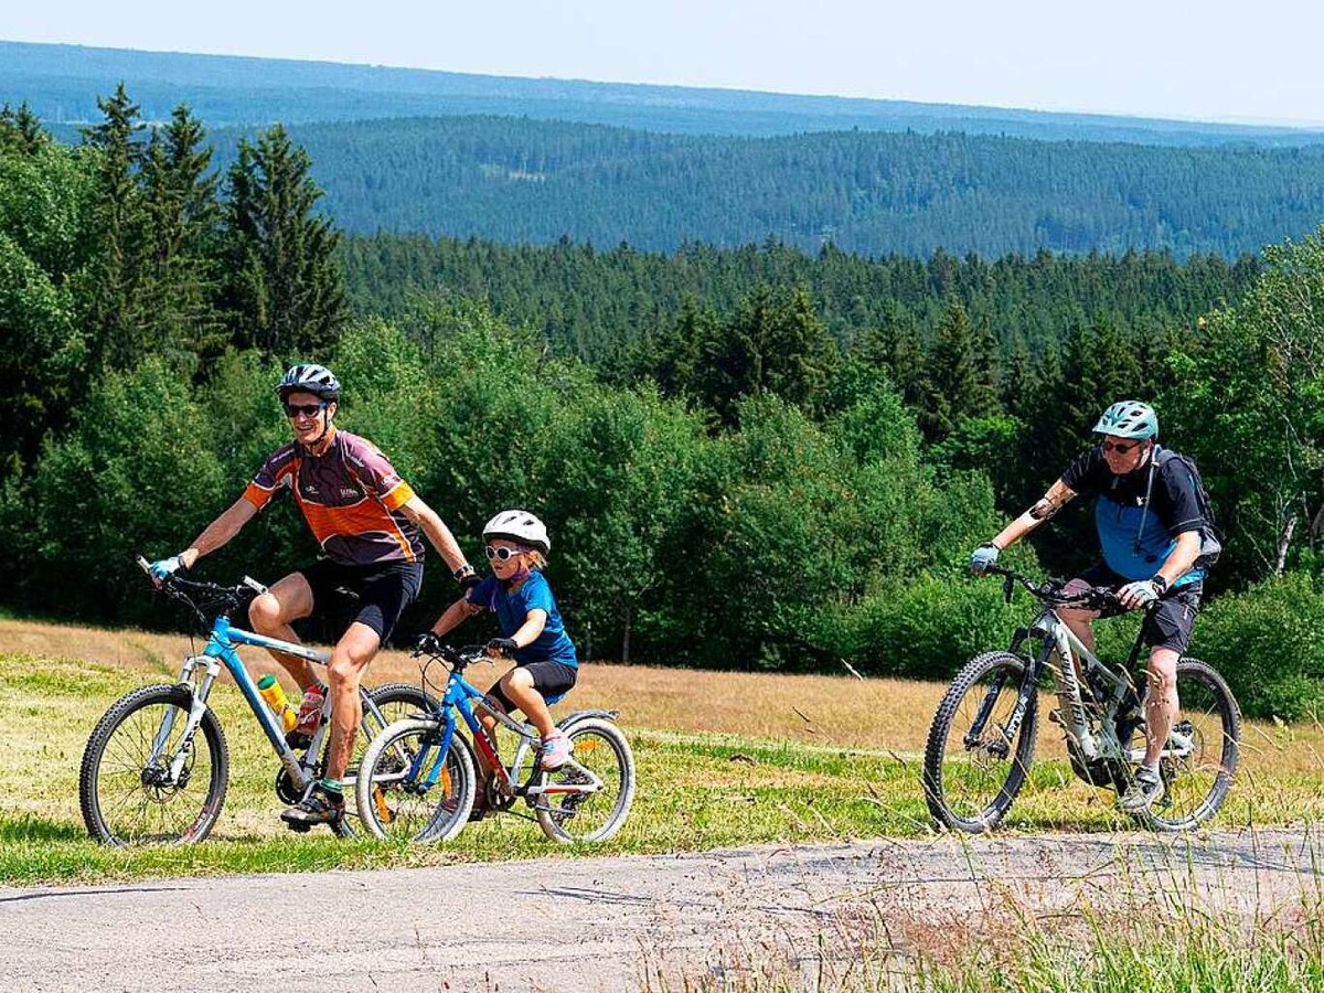
[[[277,581],[249,606],[254,630],[297,642],[293,621],[308,617],[334,591],[357,596],[356,614],[336,642],[327,665],[331,694],[331,745],[326,775],[312,792],[281,817],[293,825],[334,824],[344,814],[342,779],[359,733],[363,708],[359,682],[391,636],[401,612],[418,596],[424,547],[420,531],[466,588],[478,577],[450,530],[422,502],[369,441],[332,425],[340,383],[323,365],[291,367],[275,388],[294,430],[294,441],[274,451],[257,477],[224,514],[179,555],[152,563],[160,580],[191,568],[229,542],[279,490],[303,511],[322,557]],[[303,688],[299,724],[291,745],[307,745],[316,731],[327,687],[301,658],[271,653]]]

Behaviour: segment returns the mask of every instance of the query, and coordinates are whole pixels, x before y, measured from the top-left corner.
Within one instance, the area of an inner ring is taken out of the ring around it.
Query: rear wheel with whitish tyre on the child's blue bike
[[[634,802],[634,752],[622,731],[602,718],[571,720],[563,730],[573,745],[575,761],[591,769],[606,788],[591,794],[539,797],[538,825],[548,838],[564,845],[606,841],[625,824]],[[600,763],[594,753],[604,747],[605,759]],[[583,773],[567,763],[560,769],[544,772],[539,782],[573,782],[580,776]]]

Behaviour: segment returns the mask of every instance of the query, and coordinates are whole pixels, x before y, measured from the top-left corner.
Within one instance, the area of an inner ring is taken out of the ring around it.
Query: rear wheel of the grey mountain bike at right
[[[1177,722],[1189,731],[1194,748],[1189,756],[1161,760],[1162,798],[1133,814],[1162,833],[1189,831],[1213,818],[1241,761],[1241,707],[1217,669],[1196,658],[1178,659],[1177,699]]]

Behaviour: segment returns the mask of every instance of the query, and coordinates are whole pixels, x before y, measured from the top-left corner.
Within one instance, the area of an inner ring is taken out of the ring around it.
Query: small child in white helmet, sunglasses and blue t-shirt
[[[552,722],[547,698],[561,696],[575,686],[579,658],[542,572],[552,543],[543,522],[532,514],[503,510],[483,528],[483,544],[493,573],[448,606],[432,633],[445,636],[485,610],[496,614],[502,637],[489,641],[487,651],[493,658],[514,657],[515,667],[487,691],[487,699],[507,714],[523,711],[543,736],[542,767],[559,769],[571,757],[571,740]],[[489,733],[495,730],[494,718],[479,711],[479,719]],[[482,752],[478,763],[482,776],[490,776]],[[481,808],[475,813],[481,816]]]

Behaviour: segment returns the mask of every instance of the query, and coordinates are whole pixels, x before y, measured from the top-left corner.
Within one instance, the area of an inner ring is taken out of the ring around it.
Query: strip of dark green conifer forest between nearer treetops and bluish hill
[[[543,246],[387,233],[340,245],[350,298],[363,315],[400,316],[421,297],[481,299],[503,320],[540,331],[557,354],[604,371],[665,335],[687,301],[726,314],[760,286],[805,287],[847,350],[880,330],[928,346],[955,301],[989,327],[1006,363],[1021,352],[1051,354],[1078,326],[1165,342],[1169,328],[1193,327],[1260,274],[1259,256],[1178,261],[1156,252],[866,258],[767,241],[662,254],[568,238]]]

